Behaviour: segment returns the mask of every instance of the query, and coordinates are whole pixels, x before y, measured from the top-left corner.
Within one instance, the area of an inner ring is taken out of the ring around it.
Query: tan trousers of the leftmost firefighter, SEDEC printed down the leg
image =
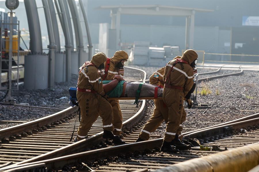
[[[81,121],[77,129],[79,136],[86,136],[98,116],[102,118],[104,130],[113,131],[113,111],[110,103],[100,94],[77,92],[77,100],[81,109]],[[77,137],[78,140],[82,138]]]

